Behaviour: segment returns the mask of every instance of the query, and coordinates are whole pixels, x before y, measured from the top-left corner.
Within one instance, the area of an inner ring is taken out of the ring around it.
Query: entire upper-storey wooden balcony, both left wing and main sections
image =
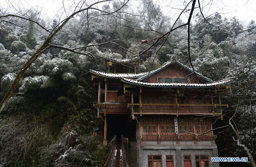
[[[221,115],[227,104],[139,104],[139,103],[98,103],[94,104],[99,114],[135,115]]]

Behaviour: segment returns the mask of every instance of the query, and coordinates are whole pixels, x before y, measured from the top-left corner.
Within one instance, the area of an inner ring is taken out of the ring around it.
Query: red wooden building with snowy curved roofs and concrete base
[[[146,73],[90,72],[103,143],[114,135],[129,138],[139,167],[219,166],[211,162],[218,156],[212,121],[228,107],[221,99],[231,93],[232,78],[212,81],[175,60]]]

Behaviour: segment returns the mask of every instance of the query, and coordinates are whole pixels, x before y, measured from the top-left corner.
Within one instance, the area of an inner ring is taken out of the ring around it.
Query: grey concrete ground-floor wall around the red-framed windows
[[[183,155],[191,155],[192,167],[195,167],[195,155],[208,155],[209,166],[219,167],[211,162],[211,157],[218,157],[216,144],[212,142],[143,142],[138,144],[138,166],[148,166],[148,155],[162,155],[162,167],[166,167],[166,155],[173,155],[174,166],[184,167]]]

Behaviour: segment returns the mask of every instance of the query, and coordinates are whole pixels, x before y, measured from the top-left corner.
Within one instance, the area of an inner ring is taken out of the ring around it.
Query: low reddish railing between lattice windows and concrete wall
[[[213,141],[213,135],[137,135],[142,141]]]

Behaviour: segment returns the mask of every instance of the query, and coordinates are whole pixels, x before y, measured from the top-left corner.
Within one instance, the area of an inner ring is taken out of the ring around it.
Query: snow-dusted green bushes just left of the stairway
[[[40,166],[103,166],[108,147],[102,146],[102,138],[94,135],[79,135],[70,131],[60,140],[42,150]]]

